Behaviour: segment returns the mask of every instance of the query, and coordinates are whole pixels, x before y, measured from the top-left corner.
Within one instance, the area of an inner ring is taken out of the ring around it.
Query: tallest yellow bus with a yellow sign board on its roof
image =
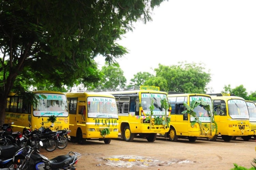
[[[166,102],[168,102],[167,93],[159,91],[159,87],[140,86],[127,90],[104,90],[116,99],[118,132],[121,139],[131,142],[135,137],[154,142],[158,133],[169,131],[167,123],[155,123],[157,119],[167,121],[170,118],[170,108],[166,110],[161,105],[161,100],[166,99]],[[152,105],[154,105],[154,108]]]

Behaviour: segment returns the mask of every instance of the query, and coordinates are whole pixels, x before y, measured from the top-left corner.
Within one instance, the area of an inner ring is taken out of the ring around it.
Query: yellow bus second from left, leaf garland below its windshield
[[[71,139],[79,143],[118,138],[118,113],[114,96],[96,92],[65,93],[68,99]]]

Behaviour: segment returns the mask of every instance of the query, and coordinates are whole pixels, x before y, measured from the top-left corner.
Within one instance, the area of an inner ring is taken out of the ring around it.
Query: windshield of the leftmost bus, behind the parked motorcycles
[[[68,104],[65,95],[62,94],[35,94],[38,95],[37,103],[33,104],[33,115],[48,117],[68,117]]]

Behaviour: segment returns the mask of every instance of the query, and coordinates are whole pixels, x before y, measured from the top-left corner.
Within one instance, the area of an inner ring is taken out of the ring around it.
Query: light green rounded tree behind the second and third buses
[[[97,83],[97,89],[108,88],[122,88],[125,87],[126,78],[124,77],[124,71],[120,69],[118,64],[107,65],[102,67],[101,72],[103,77],[99,83]]]

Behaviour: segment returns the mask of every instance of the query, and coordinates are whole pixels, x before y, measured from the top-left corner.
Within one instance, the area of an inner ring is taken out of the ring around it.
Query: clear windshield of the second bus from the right
[[[232,119],[249,119],[246,102],[240,99],[228,100],[228,113]]]

